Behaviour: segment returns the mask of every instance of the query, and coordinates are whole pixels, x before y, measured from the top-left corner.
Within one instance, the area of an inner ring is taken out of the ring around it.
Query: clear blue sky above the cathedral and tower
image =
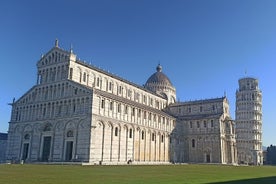
[[[0,1],[0,132],[54,46],[143,85],[160,62],[181,101],[221,97],[238,79],[263,92],[263,145],[276,145],[275,0]],[[247,74],[245,74],[247,71]]]

